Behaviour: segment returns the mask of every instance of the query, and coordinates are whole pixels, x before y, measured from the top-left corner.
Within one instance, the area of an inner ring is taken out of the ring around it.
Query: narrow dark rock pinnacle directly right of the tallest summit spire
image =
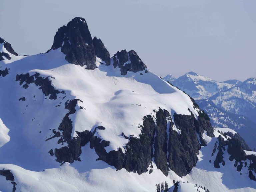
[[[95,50],[95,55],[98,58],[102,59],[102,61],[104,61],[106,65],[110,65],[110,55],[102,41],[94,37],[92,42]]]

